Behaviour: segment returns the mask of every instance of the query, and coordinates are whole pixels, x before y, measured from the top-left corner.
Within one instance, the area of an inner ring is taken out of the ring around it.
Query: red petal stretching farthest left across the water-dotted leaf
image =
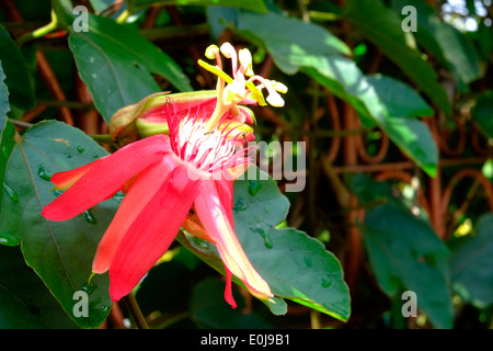
[[[169,138],[163,135],[129,144],[87,171],[69,190],[46,205],[42,215],[50,220],[70,219],[115,194],[128,179],[170,151]]]

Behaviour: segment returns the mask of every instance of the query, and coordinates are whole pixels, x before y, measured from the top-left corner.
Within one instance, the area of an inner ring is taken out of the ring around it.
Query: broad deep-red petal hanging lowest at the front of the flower
[[[195,196],[199,181],[177,166],[144,207],[122,240],[110,268],[110,295],[119,301],[168,250]]]

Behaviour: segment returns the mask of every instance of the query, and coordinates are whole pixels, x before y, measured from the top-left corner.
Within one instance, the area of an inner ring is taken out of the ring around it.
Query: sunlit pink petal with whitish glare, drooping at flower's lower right
[[[216,242],[219,256],[227,268],[238,276],[259,298],[273,296],[268,284],[250,263],[233,229],[232,208],[225,207],[219,188],[214,180],[204,180],[200,194],[195,199],[194,205],[202,224]],[[222,188],[223,189],[223,188]]]

